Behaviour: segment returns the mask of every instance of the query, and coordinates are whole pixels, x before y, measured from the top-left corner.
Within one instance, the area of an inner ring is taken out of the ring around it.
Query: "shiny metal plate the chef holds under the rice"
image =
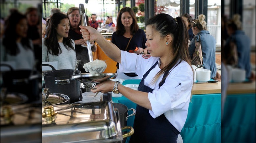
[[[82,73],[80,75],[74,75],[70,79],[76,79],[86,83],[99,83],[112,77],[116,77],[117,75],[117,73]]]

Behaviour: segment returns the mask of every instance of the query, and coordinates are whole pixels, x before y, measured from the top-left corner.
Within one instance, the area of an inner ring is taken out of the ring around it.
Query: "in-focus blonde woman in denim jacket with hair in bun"
[[[196,48],[195,40],[199,40],[199,37],[200,37],[204,68],[211,70],[212,79],[220,81],[221,77],[217,73],[217,68],[215,63],[216,41],[214,37],[210,35],[210,32],[207,31],[205,15],[200,14],[198,16],[198,19],[192,21],[192,31],[195,37],[192,39],[188,47],[188,51],[191,59],[193,58],[193,53]]]

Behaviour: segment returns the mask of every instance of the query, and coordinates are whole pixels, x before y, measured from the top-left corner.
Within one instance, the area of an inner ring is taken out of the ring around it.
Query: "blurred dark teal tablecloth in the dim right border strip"
[[[221,142],[256,142],[255,96],[255,93],[227,96],[221,122]]]

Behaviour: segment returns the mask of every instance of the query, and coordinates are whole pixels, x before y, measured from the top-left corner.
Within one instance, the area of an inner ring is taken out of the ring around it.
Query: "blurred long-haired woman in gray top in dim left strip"
[[[13,12],[6,20],[4,38],[1,40],[1,61],[14,61],[16,69],[31,70],[35,56],[33,43],[27,37],[28,23],[26,16]]]

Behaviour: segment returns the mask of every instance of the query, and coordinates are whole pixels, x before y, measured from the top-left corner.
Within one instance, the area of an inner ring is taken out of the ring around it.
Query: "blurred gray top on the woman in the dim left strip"
[[[21,43],[17,43],[20,52],[17,55],[10,55],[5,52],[1,39],[1,61],[14,61],[16,64],[15,69],[32,70],[35,62],[35,56],[33,52],[33,43],[31,40],[29,40],[29,44],[32,47],[32,50],[25,49]]]

